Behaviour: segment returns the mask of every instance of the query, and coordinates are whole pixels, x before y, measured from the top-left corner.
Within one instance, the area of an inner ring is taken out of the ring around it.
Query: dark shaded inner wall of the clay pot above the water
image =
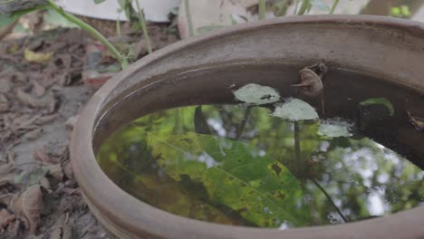
[[[332,62],[327,62],[332,65]],[[290,62],[224,62],[203,65],[192,69],[171,71],[139,84],[112,100],[97,119],[93,138],[96,153],[113,131],[153,111],[178,106],[235,103],[232,91],[247,83],[258,83],[274,87],[283,97],[299,97],[291,85],[298,81],[298,72],[304,65]],[[330,68],[323,78],[325,118],[340,117],[354,120],[361,100],[386,97],[392,102],[396,114],[377,124],[371,124],[364,134],[382,145],[392,148],[424,168],[424,136],[413,126],[404,127],[409,118],[405,108],[405,97],[424,95],[394,84],[385,79]],[[304,99],[316,108],[321,100]],[[424,97],[420,97],[423,100]],[[399,126],[399,127],[398,127]],[[392,130],[388,130],[392,129]],[[408,135],[405,137],[404,135]]]

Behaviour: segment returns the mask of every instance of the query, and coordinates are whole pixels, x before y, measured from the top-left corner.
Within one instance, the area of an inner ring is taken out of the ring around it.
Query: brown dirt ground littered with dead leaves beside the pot
[[[149,29],[155,49],[178,40]],[[141,36],[127,42],[145,54]],[[0,41],[0,238],[109,238],[82,200],[68,150],[72,122],[96,91],[82,81],[90,43],[77,29]]]

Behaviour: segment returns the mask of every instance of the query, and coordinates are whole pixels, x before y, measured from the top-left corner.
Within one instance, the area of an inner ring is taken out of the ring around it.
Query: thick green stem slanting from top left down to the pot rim
[[[110,43],[108,39],[106,39],[106,37],[104,37],[101,33],[99,33],[99,31],[94,29],[91,25],[84,23],[81,19],[74,16],[73,14],[66,13],[61,6],[54,4],[53,0],[47,0],[47,3],[58,14],[61,14],[64,18],[66,18],[68,21],[72,22],[73,24],[77,24],[83,30],[90,33],[94,38],[96,38],[103,45],[105,45],[106,48],[108,48],[108,50],[111,52],[112,56],[120,62],[122,69],[128,66],[127,59],[123,57],[122,54],[113,46],[113,44]]]

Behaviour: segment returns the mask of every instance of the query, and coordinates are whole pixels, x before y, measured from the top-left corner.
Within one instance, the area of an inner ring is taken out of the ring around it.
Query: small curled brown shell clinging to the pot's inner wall
[[[299,87],[298,91],[301,95],[314,98],[323,93],[323,81],[315,72],[309,68],[304,68],[299,74],[300,83],[292,86]]]

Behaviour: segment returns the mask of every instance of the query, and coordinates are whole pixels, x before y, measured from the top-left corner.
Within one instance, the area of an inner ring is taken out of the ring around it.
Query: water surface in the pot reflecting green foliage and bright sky
[[[221,224],[283,230],[423,205],[424,172],[394,151],[358,133],[319,137],[316,122],[298,128],[295,159],[294,124],[266,108],[164,110],[115,132],[98,158],[113,181],[141,200]]]

